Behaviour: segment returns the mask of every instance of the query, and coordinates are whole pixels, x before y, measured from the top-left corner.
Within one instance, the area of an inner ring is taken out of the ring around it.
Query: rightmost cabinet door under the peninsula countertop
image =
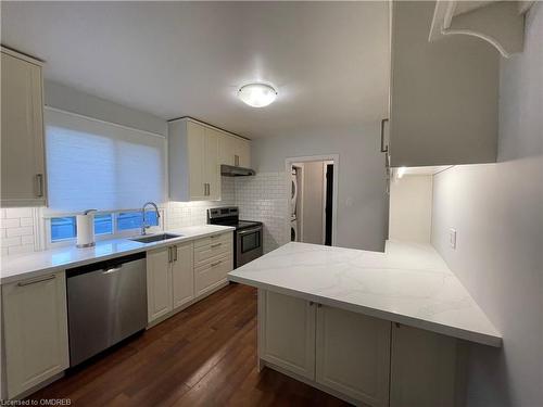
[[[391,348],[391,407],[463,405],[463,364],[455,338],[394,323]]]

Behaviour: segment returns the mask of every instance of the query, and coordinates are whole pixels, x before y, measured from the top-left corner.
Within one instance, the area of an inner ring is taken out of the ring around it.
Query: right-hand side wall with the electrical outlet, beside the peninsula
[[[525,51],[501,62],[498,162],[434,177],[432,243],[504,336],[471,346],[467,406],[543,406],[542,40],[535,3]]]

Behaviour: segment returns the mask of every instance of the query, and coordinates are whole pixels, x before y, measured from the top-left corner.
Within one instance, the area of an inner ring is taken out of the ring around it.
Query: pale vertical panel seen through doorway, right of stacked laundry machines
[[[323,244],[323,162],[304,163],[303,234],[304,243]]]

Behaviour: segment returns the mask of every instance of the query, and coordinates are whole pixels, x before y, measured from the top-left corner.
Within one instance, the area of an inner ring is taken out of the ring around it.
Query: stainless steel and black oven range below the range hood
[[[262,256],[262,221],[239,220],[237,206],[207,209],[207,224],[236,228],[233,232],[233,265],[236,267]]]

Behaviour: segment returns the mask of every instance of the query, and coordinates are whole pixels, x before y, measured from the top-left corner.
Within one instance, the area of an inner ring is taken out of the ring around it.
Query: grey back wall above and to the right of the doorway
[[[379,131],[379,123],[375,123],[365,127],[318,128],[293,132],[290,137],[256,139],[251,148],[253,167],[257,173],[281,174],[279,177],[286,179],[287,157],[339,154],[336,245],[382,251],[388,234],[388,198]],[[274,200],[288,196],[287,191],[278,190],[277,193],[280,195]],[[286,225],[287,209],[277,212],[274,218],[282,219]],[[282,242],[288,242],[285,233],[282,236]]]

